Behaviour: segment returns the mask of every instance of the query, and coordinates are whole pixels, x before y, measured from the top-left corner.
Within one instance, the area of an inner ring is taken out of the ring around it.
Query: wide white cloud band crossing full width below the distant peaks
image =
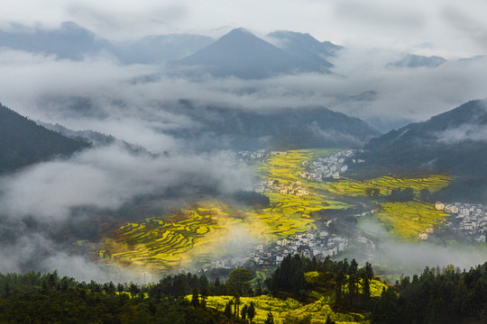
[[[421,50],[414,54],[432,54]],[[166,73],[163,67],[122,66],[104,56],[72,62],[3,50],[0,67],[9,77],[0,80],[0,98],[33,120],[97,130],[162,152],[166,148],[158,147],[158,140],[170,140],[164,130],[198,127],[198,121],[171,109],[179,99],[262,113],[324,105],[387,131],[486,95],[482,85],[487,82],[487,58],[450,60],[434,69],[384,69],[403,55],[350,47],[333,58],[331,75],[242,80],[190,79]],[[370,100],[357,95],[372,91]]]

